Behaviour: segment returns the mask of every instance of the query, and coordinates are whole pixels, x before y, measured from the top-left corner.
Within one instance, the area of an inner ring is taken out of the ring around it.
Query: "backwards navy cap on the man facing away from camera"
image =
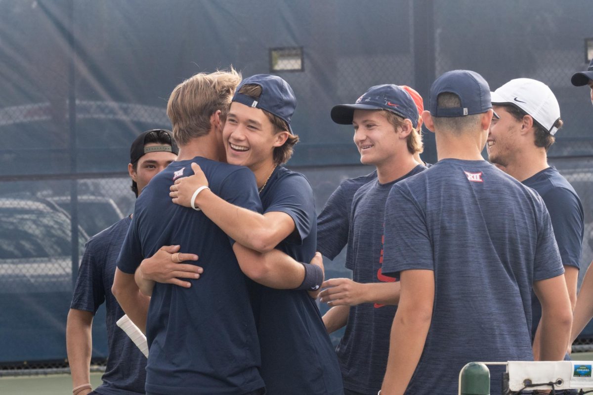
[[[461,107],[439,108],[439,94],[452,93],[461,101]],[[432,83],[429,96],[429,111],[433,117],[463,117],[486,113],[492,108],[490,86],[478,73],[470,70],[452,70]]]

